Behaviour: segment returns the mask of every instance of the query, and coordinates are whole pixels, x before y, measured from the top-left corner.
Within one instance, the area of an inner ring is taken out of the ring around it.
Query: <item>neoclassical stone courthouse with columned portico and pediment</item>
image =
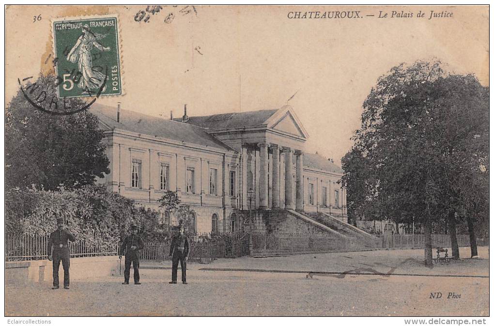
[[[165,191],[176,191],[193,208],[198,232],[237,231],[249,208],[260,230],[268,229],[267,211],[346,215],[342,169],[304,151],[309,135],[290,106],[201,117],[188,117],[185,106],[179,119],[120,104],[90,111],[105,132],[110,160],[100,182],[154,209]]]

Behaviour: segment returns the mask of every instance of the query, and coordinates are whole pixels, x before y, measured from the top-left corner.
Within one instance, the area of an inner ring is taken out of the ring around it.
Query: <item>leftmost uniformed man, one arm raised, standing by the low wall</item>
[[[69,240],[74,242],[76,238],[65,228],[63,218],[57,218],[58,229],[50,234],[48,240],[48,260],[53,260],[53,287],[59,288],[58,285],[58,270],[60,269],[60,261],[63,266],[63,288],[69,289],[69,267],[70,267],[70,252]]]

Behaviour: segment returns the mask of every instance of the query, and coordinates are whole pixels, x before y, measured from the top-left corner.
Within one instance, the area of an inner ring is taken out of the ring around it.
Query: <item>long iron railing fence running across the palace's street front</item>
[[[242,257],[249,254],[294,254],[304,252],[331,252],[371,250],[378,248],[423,248],[423,235],[390,235],[380,237],[338,235],[301,235],[293,233],[260,234],[236,233],[210,235],[191,239],[189,257],[192,261],[209,263],[218,258]],[[5,260],[40,260],[47,258],[49,235],[5,234]],[[459,246],[469,246],[468,235],[457,235]],[[93,238],[70,243],[71,257],[117,255],[119,240],[94,235]],[[477,238],[479,246],[489,245],[489,238]],[[141,259],[169,259],[170,241],[147,243],[141,250]],[[451,247],[448,234],[433,234],[432,246]]]

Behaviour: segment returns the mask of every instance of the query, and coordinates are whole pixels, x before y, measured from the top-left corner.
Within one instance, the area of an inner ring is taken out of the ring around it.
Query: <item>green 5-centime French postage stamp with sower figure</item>
[[[59,98],[122,94],[116,16],[54,20]]]

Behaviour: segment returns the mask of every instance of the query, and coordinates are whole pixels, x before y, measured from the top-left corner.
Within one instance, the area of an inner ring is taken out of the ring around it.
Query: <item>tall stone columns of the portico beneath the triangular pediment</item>
[[[252,148],[252,145],[254,144],[245,144],[245,146],[249,146],[250,148]],[[269,144],[266,142],[255,143],[255,148],[259,150],[259,161],[257,161],[259,164],[259,193],[256,194],[256,196],[259,196],[259,208],[280,209],[280,207],[283,206],[283,203],[281,202],[281,171],[284,169],[284,208],[303,210],[303,152],[290,147],[280,146],[279,144]],[[293,196],[293,154],[296,157],[295,199]],[[284,157],[285,166],[281,166],[282,155]],[[271,201],[269,201],[269,195],[271,195]]]

